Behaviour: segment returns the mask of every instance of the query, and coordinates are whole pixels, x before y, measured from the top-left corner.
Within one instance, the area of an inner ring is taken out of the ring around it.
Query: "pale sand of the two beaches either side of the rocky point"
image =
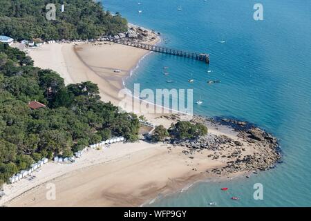
[[[156,40],[157,41],[157,40]],[[156,41],[153,42],[156,43]],[[129,75],[147,50],[97,42],[89,44],[46,44],[30,52],[39,68],[50,68],[64,77],[66,84],[93,81],[100,88],[104,102],[120,104],[118,93],[122,79]],[[115,73],[114,70],[121,70]],[[136,100],[136,102],[140,102]],[[176,120],[161,115],[144,114],[149,122],[169,127]],[[187,119],[187,116],[182,115]],[[252,155],[254,146],[237,137],[227,127],[209,127],[209,133],[226,135],[242,142]],[[185,155],[185,147],[170,144],[113,144],[104,150],[90,149],[74,164],[53,162],[35,172],[33,180],[22,180],[4,186],[6,196],[0,204],[6,206],[140,206],[159,194],[173,193],[185,186],[207,177],[225,177],[206,173],[221,168],[229,159],[213,160],[211,151],[195,151]],[[227,146],[224,153],[236,151]],[[236,175],[236,174],[235,174]],[[232,177],[233,174],[230,175]],[[46,200],[46,184],[56,186],[56,200]]]

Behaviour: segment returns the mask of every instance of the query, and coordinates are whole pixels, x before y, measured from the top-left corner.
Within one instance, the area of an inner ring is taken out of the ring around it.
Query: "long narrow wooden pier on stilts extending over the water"
[[[198,52],[187,52],[185,50],[176,50],[173,48],[165,48],[162,46],[153,46],[151,44],[144,44],[140,42],[130,41],[129,39],[107,38],[106,40],[117,43],[117,44],[124,44],[126,46],[132,46],[135,48],[142,48],[144,50],[151,50],[154,52],[160,52],[160,53],[164,53],[168,55],[176,55],[180,57],[196,59],[199,61],[205,61],[205,63],[209,64],[209,54],[198,53]]]

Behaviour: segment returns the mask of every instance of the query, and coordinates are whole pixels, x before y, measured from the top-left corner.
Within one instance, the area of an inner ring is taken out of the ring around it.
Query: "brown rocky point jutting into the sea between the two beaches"
[[[173,117],[176,119],[176,116]],[[238,172],[257,173],[272,169],[281,160],[279,140],[253,124],[235,119],[202,116],[194,116],[191,122],[205,124],[207,128],[216,128],[216,130],[220,126],[225,126],[237,133],[237,139],[208,133],[194,140],[167,140],[174,146],[186,147],[187,151],[183,153],[189,155],[189,158],[195,151],[210,150],[211,154],[207,155],[209,159],[226,163],[226,166],[212,169],[207,173],[216,175],[230,175]]]

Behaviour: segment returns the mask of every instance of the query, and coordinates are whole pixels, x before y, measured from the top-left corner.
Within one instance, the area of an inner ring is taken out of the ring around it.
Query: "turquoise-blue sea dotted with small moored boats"
[[[196,114],[247,120],[281,139],[283,163],[275,169],[250,179],[194,184],[150,206],[311,206],[311,1],[261,0],[263,21],[254,21],[258,1],[252,0],[102,2],[131,23],[161,32],[164,46],[211,55],[207,66],[151,53],[133,70],[126,87],[194,88],[194,100],[201,96],[204,101],[194,106]],[[163,66],[169,66],[169,78],[176,82],[165,82]],[[194,84],[187,81],[191,74]],[[209,79],[222,82],[209,86]],[[258,182],[264,200],[253,198]],[[223,186],[230,192],[220,191]],[[241,200],[230,200],[232,195]]]

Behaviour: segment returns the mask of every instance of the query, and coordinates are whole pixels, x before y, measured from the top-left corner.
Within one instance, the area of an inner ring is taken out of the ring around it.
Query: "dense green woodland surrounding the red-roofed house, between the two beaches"
[[[0,183],[42,157],[71,156],[113,136],[138,140],[138,117],[100,101],[96,84],[65,86],[53,70],[32,64],[0,43]],[[46,107],[31,109],[30,101]]]

